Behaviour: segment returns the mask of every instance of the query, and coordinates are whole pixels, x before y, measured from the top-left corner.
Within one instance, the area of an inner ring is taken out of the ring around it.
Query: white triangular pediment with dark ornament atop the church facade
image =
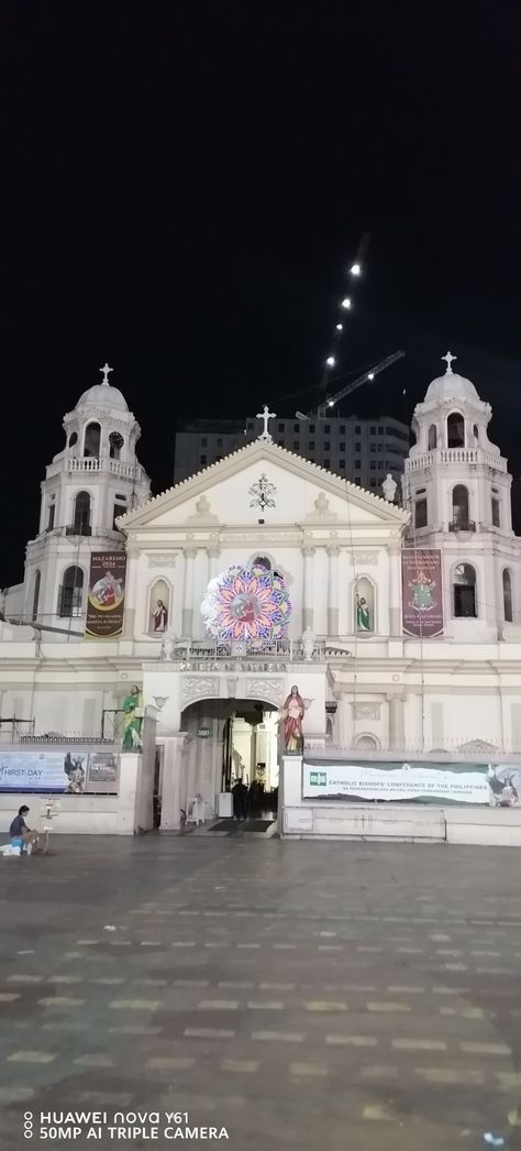
[[[267,503],[263,501],[267,501]],[[129,534],[150,528],[299,524],[315,527],[408,523],[401,508],[278,444],[256,440],[120,518]]]

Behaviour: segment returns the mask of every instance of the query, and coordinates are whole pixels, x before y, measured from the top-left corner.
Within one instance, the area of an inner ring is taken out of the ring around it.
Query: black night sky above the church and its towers
[[[521,472],[521,9],[277,8],[0,8],[0,586],[106,359],[161,490],[176,418],[312,405],[363,231],[339,371],[407,359],[344,410],[409,420],[450,348]]]

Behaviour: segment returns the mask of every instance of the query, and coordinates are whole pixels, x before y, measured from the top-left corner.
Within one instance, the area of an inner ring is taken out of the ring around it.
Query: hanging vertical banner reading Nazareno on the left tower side
[[[123,635],[127,556],[124,551],[93,551],[89,577],[85,635],[113,640]]]

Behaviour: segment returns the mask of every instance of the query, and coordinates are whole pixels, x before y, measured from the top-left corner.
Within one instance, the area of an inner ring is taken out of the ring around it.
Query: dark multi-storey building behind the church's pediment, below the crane
[[[259,434],[258,417],[246,420],[186,420],[175,439],[174,482],[219,463]],[[368,491],[380,489],[391,474],[400,481],[409,448],[406,424],[390,416],[361,419],[332,416],[327,419],[298,420],[276,418],[271,425],[274,442],[297,456],[319,464],[340,479],[352,480]]]

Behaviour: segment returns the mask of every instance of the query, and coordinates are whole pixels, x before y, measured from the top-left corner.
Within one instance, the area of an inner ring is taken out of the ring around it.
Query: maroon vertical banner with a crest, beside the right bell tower
[[[401,552],[401,612],[406,635],[432,639],[443,633],[442,552],[406,548]]]

